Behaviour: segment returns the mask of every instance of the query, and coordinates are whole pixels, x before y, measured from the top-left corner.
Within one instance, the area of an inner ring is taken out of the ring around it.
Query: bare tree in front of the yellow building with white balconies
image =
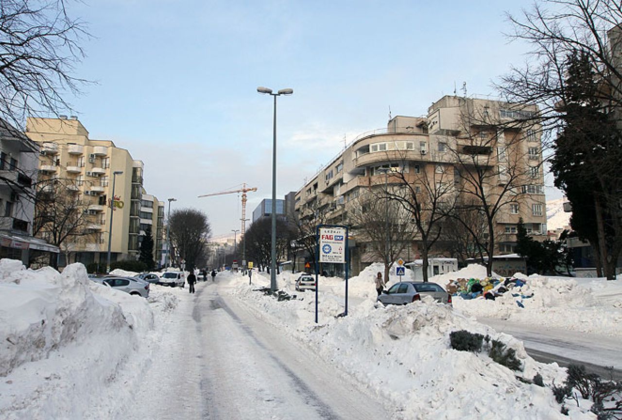
[[[81,240],[96,235],[93,223],[102,225],[101,214],[90,214],[80,189],[72,180],[48,179],[37,183],[32,235],[61,248],[67,258]],[[53,261],[56,265],[56,261]],[[58,267],[55,267],[58,268]]]

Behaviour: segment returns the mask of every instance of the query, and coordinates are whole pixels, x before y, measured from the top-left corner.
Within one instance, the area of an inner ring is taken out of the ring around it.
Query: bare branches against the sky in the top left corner
[[[2,0],[0,4],[0,116],[24,126],[27,116],[57,114],[86,82],[73,76],[83,58],[84,22],[65,0]]]

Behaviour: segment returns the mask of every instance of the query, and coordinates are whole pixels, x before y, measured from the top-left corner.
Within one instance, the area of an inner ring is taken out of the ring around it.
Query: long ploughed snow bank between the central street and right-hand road
[[[238,284],[233,293],[269,322],[315,354],[353,376],[401,418],[547,418],[564,419],[549,388],[527,385],[540,373],[547,384],[561,383],[565,372],[528,357],[522,342],[424,297],[407,306],[383,307],[364,299],[347,317],[336,317],[343,302],[320,292],[320,324],[314,324],[315,294],[291,301]],[[374,291],[375,292],[375,291]],[[524,371],[514,372],[486,353],[458,352],[450,347],[454,330],[488,334],[516,350]],[[570,407],[571,419],[592,418]]]

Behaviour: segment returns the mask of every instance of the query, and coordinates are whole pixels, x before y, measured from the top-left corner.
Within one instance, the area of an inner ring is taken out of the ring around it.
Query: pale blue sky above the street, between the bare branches
[[[466,82],[468,95],[521,65],[506,11],[531,2],[157,1],[72,5],[88,22],[79,77],[96,82],[71,102],[94,139],[145,164],[144,186],[173,208],[210,217],[215,235],[239,228],[271,197],[272,99],[257,86],[293,88],[277,105],[277,195],[358,134],[392,115],[423,115]],[[65,111],[60,110],[60,113]],[[549,181],[550,184],[550,181]],[[247,217],[249,217],[247,215]]]

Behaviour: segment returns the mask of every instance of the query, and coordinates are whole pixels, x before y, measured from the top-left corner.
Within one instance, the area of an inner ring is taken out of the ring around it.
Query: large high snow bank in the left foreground
[[[82,264],[58,273],[2,259],[0,279],[0,418],[111,418],[128,403],[110,385],[131,385],[149,362],[146,299],[90,281]]]

